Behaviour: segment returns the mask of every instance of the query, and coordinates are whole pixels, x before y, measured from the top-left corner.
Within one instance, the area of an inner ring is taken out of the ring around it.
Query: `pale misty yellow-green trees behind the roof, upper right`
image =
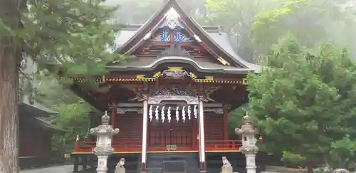
[[[259,61],[288,33],[308,48],[333,41],[356,53],[355,41],[348,36],[356,28],[355,9],[342,8],[345,4],[328,0],[207,0],[211,11],[207,21],[224,25],[231,41],[237,42],[236,50],[249,61]]]

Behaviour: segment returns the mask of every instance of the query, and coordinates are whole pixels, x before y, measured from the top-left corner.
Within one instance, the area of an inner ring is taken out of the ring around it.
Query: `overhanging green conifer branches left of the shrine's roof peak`
[[[110,22],[117,8],[102,3],[28,1],[20,11],[21,27],[7,25],[11,19],[1,19],[0,37],[14,38],[42,69],[48,68],[44,63],[57,63],[67,76],[103,75],[107,63],[120,59],[108,51],[120,25]]]

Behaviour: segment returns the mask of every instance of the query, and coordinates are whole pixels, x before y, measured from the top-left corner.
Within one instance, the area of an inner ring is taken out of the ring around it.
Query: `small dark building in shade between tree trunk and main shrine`
[[[63,153],[51,149],[52,137],[64,130],[46,121],[54,112],[39,103],[23,100],[19,103],[19,166],[21,169],[39,167],[63,161]]]

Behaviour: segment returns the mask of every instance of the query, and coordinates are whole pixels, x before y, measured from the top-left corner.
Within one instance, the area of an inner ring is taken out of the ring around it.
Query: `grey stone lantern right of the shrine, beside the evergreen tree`
[[[258,129],[253,126],[251,117],[244,116],[244,125],[241,129],[236,128],[235,132],[237,135],[242,137],[242,146],[240,151],[246,156],[246,170],[247,173],[256,173],[256,153],[258,152],[258,147],[256,146],[256,137],[258,134]]]

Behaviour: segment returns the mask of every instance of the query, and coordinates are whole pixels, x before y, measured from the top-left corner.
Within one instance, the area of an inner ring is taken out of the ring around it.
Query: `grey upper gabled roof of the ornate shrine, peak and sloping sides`
[[[152,33],[157,29],[159,21],[164,18],[164,15],[170,9],[174,9],[180,16],[180,20],[186,26],[185,28],[190,33],[197,35],[201,41],[202,46],[204,46],[207,51],[214,54],[214,56],[224,57],[231,65],[239,68],[248,68],[253,71],[259,71],[260,66],[244,61],[239,57],[234,49],[231,48],[228,37],[226,33],[219,31],[217,26],[206,26],[201,27],[199,24],[192,19],[191,16],[186,14],[181,6],[176,0],[167,1],[164,6],[162,6],[151,18],[143,25],[127,26],[127,28],[122,29],[121,33],[118,34],[116,38],[116,48],[115,52],[118,53],[132,53],[132,50],[138,47],[145,39],[147,34]],[[131,52],[130,52],[131,51]]]

